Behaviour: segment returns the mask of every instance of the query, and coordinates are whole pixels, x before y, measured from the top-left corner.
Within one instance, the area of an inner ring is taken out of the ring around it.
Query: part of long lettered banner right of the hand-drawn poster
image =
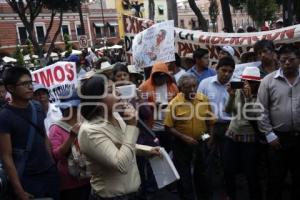
[[[176,28],[175,32],[176,49],[180,56],[201,47],[209,51],[210,59],[218,58],[218,46],[232,46],[235,56],[239,58],[262,39],[271,40],[274,44],[300,42],[300,25],[253,33],[211,33],[180,28]]]

